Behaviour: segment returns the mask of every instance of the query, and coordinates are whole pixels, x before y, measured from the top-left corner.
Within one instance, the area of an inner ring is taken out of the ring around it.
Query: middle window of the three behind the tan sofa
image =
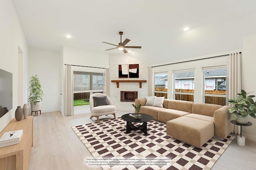
[[[173,76],[175,100],[194,102],[194,69],[175,70]]]

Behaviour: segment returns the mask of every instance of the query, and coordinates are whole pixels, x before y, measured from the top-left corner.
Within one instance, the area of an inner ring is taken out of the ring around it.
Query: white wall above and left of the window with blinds
[[[109,68],[108,54],[97,53],[85,49],[64,46],[61,51],[62,67],[62,115],[65,115],[65,65]],[[82,68],[81,68],[82,69]]]

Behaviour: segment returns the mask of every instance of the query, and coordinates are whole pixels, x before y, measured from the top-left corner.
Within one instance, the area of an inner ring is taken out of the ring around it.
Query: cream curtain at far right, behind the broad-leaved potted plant
[[[227,104],[228,99],[234,99],[241,92],[241,53],[230,54],[227,57]],[[234,125],[233,133],[240,134],[240,126]]]

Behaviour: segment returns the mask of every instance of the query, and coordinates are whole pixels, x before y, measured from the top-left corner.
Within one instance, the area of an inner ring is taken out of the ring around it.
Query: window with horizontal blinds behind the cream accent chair
[[[103,73],[74,71],[74,106],[89,105],[90,95],[103,92]]]

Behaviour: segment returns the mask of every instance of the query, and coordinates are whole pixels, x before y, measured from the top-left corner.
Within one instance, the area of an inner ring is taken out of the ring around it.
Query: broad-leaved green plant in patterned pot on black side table
[[[228,109],[229,113],[233,114],[233,119],[240,124],[248,123],[248,115],[256,119],[256,102],[252,99],[255,96],[246,95],[246,92],[241,90],[241,93],[238,94],[237,98],[228,100],[229,104],[234,105],[234,107]]]

